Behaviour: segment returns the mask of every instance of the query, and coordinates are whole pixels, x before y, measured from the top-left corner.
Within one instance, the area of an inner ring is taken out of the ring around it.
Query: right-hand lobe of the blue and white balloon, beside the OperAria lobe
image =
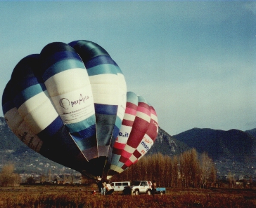
[[[127,87],[122,71],[110,55],[90,41],[69,43],[82,58],[89,74],[96,113],[98,156],[112,157],[112,148],[124,117]],[[110,162],[106,163],[108,172]]]

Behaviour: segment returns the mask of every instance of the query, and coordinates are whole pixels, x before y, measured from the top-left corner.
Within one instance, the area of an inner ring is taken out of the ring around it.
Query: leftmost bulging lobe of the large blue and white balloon
[[[34,151],[77,169],[75,163],[79,163],[80,151],[70,141],[69,132],[54,109],[45,85],[32,72],[38,62],[39,55],[29,55],[13,69],[2,99],[6,122]]]

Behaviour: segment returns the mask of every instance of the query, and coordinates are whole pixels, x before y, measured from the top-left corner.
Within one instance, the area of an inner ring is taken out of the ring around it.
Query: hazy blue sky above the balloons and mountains
[[[0,102],[23,57],[87,40],[108,51],[167,133],[251,130],[255,25],[256,1],[0,1]]]

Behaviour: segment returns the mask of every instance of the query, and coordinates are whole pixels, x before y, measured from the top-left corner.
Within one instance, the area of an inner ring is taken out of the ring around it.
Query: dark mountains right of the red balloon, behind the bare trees
[[[255,129],[243,132],[193,128],[172,137],[159,129],[150,153],[174,155],[196,148],[213,159],[218,176],[231,173],[236,179],[243,179],[244,176],[256,176],[255,138]]]

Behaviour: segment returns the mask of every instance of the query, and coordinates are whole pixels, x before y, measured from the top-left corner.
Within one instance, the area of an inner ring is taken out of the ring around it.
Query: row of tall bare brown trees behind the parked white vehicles
[[[181,155],[145,155],[141,160],[113,176],[111,181],[156,181],[158,186],[205,188],[215,183],[217,170],[207,153],[198,154],[193,148]]]

